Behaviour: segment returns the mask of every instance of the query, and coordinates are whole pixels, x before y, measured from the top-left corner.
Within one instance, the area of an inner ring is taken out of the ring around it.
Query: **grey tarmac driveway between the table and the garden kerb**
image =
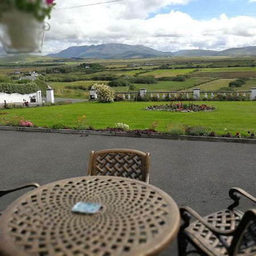
[[[40,184],[86,175],[91,150],[133,148],[151,153],[150,183],[166,191],[179,207],[205,215],[230,204],[228,190],[256,194],[256,146],[224,142],[172,141],[0,130],[0,187]],[[1,199],[1,209],[19,196]],[[242,200],[241,209],[255,205]],[[162,256],[177,255],[176,243]]]

